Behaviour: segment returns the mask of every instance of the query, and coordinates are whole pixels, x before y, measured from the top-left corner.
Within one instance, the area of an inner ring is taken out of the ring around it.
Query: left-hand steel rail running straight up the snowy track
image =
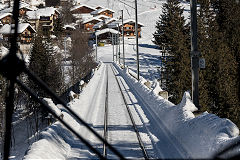
[[[104,133],[103,137],[105,141],[108,138],[108,66],[107,66],[107,82],[106,82],[106,98],[105,98],[105,111],[104,111]],[[107,158],[107,146],[103,143],[103,157]]]

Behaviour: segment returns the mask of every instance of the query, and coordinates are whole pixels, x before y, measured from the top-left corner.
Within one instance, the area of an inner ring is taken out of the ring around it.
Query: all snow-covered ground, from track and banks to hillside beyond
[[[120,15],[119,9],[124,9],[126,18],[134,19],[134,16],[131,16],[134,15],[134,10],[119,0],[82,0],[81,2],[111,8],[116,11],[115,16]],[[126,2],[134,7],[134,3]],[[151,40],[163,2],[138,0],[139,21],[145,26],[142,38],[139,40],[140,71],[141,76],[151,81],[159,78],[158,68],[161,54]],[[188,17],[189,4],[182,3],[182,5],[186,7],[184,15]],[[126,38],[125,43],[126,64],[136,71],[135,39]],[[120,51],[122,52],[122,46]],[[112,54],[112,45],[98,47],[98,60],[104,63],[83,89],[79,99],[74,99],[68,105],[95,131],[103,135],[103,112],[108,75],[110,124],[108,140],[124,157],[143,158],[130,126],[114,74],[117,75],[150,158],[211,158],[224,145],[239,139],[239,129],[230,120],[221,119],[207,112],[195,117],[192,112],[196,110],[196,107],[192,104],[187,92],[182,102],[177,105],[157,96],[153,88],[147,88],[131,77],[127,70],[122,70],[116,64],[112,64]],[[114,67],[114,72],[111,70],[111,65]],[[58,107],[64,115],[63,119],[87,138],[95,148],[102,151],[102,143],[66,110]],[[109,158],[116,158],[114,154],[110,152],[108,154]],[[24,157],[24,159],[85,158],[96,159],[97,157],[59,122],[42,131],[40,140],[29,148]]]

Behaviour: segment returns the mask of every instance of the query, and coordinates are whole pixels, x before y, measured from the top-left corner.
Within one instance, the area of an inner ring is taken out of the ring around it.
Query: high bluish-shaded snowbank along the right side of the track
[[[197,108],[188,92],[184,93],[181,103],[175,105],[157,96],[126,70],[122,71],[117,65],[115,67],[134,93],[146,102],[152,114],[158,117],[159,124],[176,137],[175,143],[180,143],[192,158],[212,158],[223,146],[239,138],[239,129],[229,119],[207,112],[195,117],[193,112]]]

